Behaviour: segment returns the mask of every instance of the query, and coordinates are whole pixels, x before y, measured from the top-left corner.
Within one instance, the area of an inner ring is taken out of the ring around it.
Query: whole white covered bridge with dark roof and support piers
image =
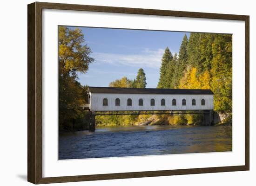
[[[209,89],[88,87],[88,109],[92,115],[92,130],[95,129],[95,113],[109,111],[116,113],[200,110],[210,124],[214,109],[213,96],[214,93]]]

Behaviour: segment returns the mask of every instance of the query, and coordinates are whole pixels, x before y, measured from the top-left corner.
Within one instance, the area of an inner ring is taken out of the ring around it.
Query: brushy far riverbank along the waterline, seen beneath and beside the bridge
[[[88,130],[89,119],[73,120],[69,127],[59,131],[74,132]],[[100,115],[96,116],[96,127],[105,126],[203,126],[203,115]],[[232,126],[232,114],[214,114],[214,126]]]

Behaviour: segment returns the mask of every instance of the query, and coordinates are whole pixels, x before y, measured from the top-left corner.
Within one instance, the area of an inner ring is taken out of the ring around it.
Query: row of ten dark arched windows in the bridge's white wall
[[[115,99],[115,106],[120,106],[120,99],[116,98]],[[172,100],[172,105],[176,106],[176,99]],[[182,99],[182,106],[187,105],[186,99]],[[196,105],[195,99],[192,99],[192,105]],[[201,105],[205,105],[205,100],[201,99]],[[108,99],[104,98],[103,99],[103,106],[108,106]],[[132,106],[132,99],[128,98],[127,99],[127,106]],[[139,106],[143,106],[143,99],[139,99]],[[150,100],[150,106],[155,106],[155,99]],[[165,106],[165,99],[161,99],[161,106]]]

